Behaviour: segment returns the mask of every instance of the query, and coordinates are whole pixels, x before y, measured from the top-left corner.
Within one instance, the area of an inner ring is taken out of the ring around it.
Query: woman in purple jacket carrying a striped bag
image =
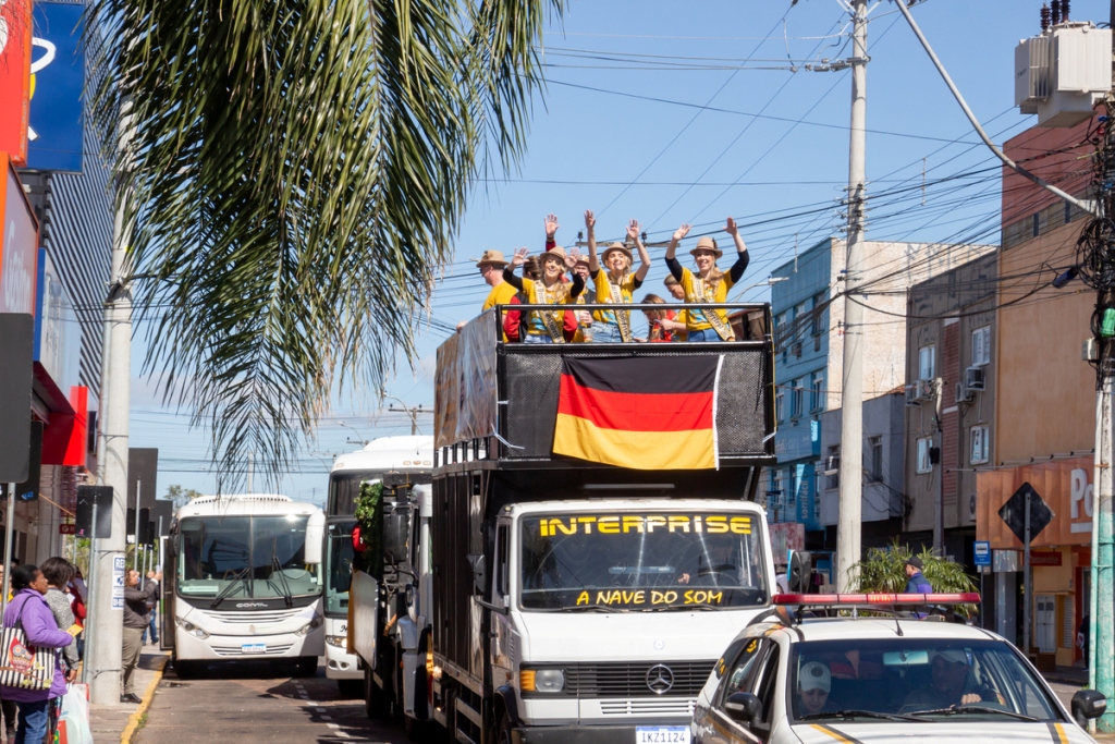
[[[66,630],[59,630],[55,622],[55,616],[45,599],[47,579],[42,571],[25,563],[11,572],[11,586],[16,597],[4,610],[3,627],[20,626],[29,646],[56,649],[55,677],[50,689],[0,687],[0,695],[6,700],[16,700],[19,706],[16,744],[39,744],[47,735],[50,700],[66,694],[66,675],[57,658],[57,649],[69,646],[74,637]]]

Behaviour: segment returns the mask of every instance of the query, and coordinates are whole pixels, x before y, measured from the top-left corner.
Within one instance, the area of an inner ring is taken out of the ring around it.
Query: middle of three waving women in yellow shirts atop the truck
[[[650,254],[639,238],[639,221],[631,220],[628,224],[628,240],[639,251],[639,269],[634,273],[631,273],[633,257],[623,243],[612,243],[604,250],[601,260],[597,260],[597,218],[591,210],[584,213],[584,228],[589,235],[589,273],[595,288],[597,302],[632,302],[634,290],[642,287],[642,281],[650,271]],[[604,268],[601,268],[601,262]],[[630,310],[595,310],[592,319],[593,344],[630,344],[634,340]]]

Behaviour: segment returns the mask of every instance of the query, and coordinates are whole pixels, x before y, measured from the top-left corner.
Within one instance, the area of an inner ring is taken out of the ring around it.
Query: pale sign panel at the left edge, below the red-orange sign
[[[2,66],[2,62],[0,62]],[[35,315],[35,274],[38,262],[39,224],[23,194],[23,186],[8,155],[0,152],[0,312]]]

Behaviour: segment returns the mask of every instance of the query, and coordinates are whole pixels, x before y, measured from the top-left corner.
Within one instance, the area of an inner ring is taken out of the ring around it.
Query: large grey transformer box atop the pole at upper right
[[[1070,127],[1089,119],[1112,85],[1112,31],[1068,21],[1022,39],[1015,48],[1015,105],[1038,126]]]

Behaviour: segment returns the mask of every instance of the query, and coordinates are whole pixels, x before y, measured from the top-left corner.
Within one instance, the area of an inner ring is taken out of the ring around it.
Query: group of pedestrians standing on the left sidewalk
[[[50,649],[54,677],[47,689],[0,685],[0,714],[6,744],[39,744],[57,726],[67,685],[75,682],[85,657],[85,619],[88,593],[81,571],[65,558],[48,558],[42,566],[12,561],[4,628],[22,630],[28,649]],[[133,674],[145,642],[151,608],[158,597],[161,573],[128,571],[124,590],[124,647],[122,703],[139,703],[132,687]],[[0,563],[0,584],[3,567]],[[152,626],[154,632],[154,626]],[[4,649],[7,655],[11,649]],[[51,738],[52,741],[52,738]]]

